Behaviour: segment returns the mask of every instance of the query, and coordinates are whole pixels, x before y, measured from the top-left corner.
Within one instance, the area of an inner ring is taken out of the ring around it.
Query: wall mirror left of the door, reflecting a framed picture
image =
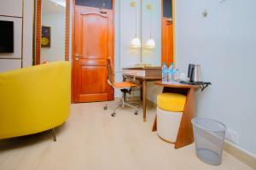
[[[70,0],[35,0],[34,64],[69,60]]]

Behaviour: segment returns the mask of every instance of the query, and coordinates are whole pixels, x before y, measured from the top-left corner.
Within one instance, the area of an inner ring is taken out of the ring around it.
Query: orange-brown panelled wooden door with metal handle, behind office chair
[[[113,58],[113,10],[76,5],[74,12],[74,102],[113,100],[107,82],[107,59]]]

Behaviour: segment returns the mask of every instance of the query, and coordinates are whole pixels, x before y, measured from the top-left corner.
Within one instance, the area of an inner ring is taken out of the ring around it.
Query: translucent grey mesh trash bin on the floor
[[[196,156],[212,166],[222,161],[222,150],[226,127],[223,123],[212,119],[192,119]]]

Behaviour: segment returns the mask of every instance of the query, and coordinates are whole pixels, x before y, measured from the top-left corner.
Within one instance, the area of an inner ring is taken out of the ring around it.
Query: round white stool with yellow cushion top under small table
[[[182,94],[159,94],[157,96],[157,133],[160,139],[175,143],[180,126],[186,96]]]

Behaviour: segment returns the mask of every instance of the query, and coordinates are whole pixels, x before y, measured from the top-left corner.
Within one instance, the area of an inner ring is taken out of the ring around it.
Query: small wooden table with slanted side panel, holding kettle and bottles
[[[177,93],[187,96],[186,104],[183,110],[183,116],[177,133],[175,149],[181,148],[194,142],[193,127],[191,119],[195,116],[195,91],[200,88],[197,85],[189,84],[163,84],[154,82],[154,84],[164,87],[163,93]],[[155,116],[152,131],[157,130],[157,117]]]

